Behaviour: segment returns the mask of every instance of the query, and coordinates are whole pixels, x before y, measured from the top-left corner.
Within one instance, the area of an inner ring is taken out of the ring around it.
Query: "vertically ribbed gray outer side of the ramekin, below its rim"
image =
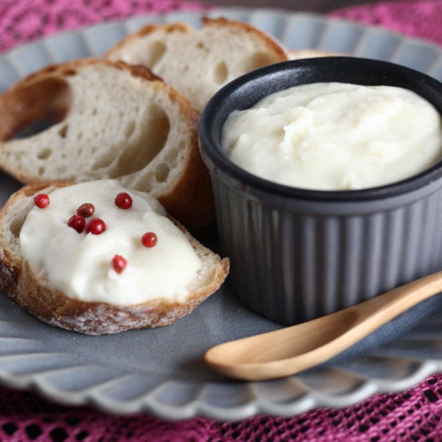
[[[283,324],[349,307],[442,268],[442,191],[372,213],[306,213],[213,179],[230,283]]]

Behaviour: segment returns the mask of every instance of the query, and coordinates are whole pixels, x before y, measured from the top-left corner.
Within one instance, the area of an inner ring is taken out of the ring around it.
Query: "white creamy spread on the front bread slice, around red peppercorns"
[[[120,192],[131,195],[131,209],[115,205]],[[134,305],[153,298],[179,301],[189,294],[189,282],[202,262],[151,195],[102,180],[64,187],[49,196],[49,206],[35,206],[20,232],[23,257],[49,287],[70,298],[115,305]],[[103,233],[77,233],[68,227],[70,216],[85,202],[95,206],[91,218],[104,220]],[[141,242],[148,231],[157,236],[155,247],[144,247]],[[119,274],[111,264],[115,255],[127,261]]]

